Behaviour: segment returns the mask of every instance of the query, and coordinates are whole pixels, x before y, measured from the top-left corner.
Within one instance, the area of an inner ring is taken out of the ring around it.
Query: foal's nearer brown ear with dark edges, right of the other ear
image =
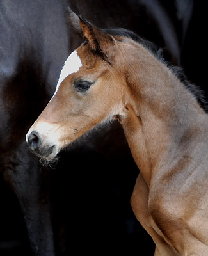
[[[79,20],[83,36],[88,40],[92,50],[100,54],[104,60],[110,63],[114,56],[115,39],[113,36],[93,26],[81,16],[79,16]]]

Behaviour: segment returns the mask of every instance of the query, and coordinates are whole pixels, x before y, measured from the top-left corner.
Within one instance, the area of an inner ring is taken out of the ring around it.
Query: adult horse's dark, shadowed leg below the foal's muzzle
[[[28,151],[24,142],[18,150],[1,154],[1,168],[19,200],[33,254],[53,256],[50,173],[40,170],[38,159]]]

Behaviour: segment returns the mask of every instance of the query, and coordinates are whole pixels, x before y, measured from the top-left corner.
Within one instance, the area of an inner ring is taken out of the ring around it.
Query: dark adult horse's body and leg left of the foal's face
[[[64,1],[58,2],[0,3],[1,176],[19,200],[35,255],[54,255],[51,175],[28,152],[24,133],[53,92],[69,51]]]

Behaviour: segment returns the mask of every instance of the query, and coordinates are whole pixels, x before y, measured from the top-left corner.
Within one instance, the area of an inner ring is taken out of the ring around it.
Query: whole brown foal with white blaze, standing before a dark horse
[[[195,96],[133,33],[96,28],[70,12],[85,42],[67,59],[56,92],[26,135],[52,160],[117,119],[140,175],[132,209],[158,255],[208,255],[208,118]]]

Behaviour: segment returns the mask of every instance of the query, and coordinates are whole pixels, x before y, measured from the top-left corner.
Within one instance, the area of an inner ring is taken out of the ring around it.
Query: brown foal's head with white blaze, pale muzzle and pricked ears
[[[109,34],[96,28],[72,12],[70,20],[84,43],[68,57],[56,92],[26,135],[29,147],[48,160],[100,122],[125,116],[129,101],[125,66],[136,43],[117,30]]]

